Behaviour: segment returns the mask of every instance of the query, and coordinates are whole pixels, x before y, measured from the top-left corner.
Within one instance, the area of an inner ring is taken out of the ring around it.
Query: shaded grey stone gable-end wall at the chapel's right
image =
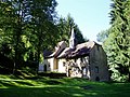
[[[90,53],[90,77],[92,81],[108,81],[106,54],[101,45],[94,45]]]

